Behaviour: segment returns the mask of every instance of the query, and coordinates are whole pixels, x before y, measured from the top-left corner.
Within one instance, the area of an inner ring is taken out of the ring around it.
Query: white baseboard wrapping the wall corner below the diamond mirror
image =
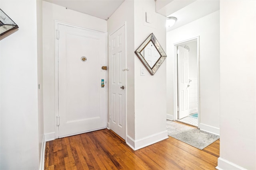
[[[139,140],[135,140],[132,139],[131,137],[129,137],[128,135],[126,136],[126,143],[127,145],[129,145],[133,150],[138,150],[144,147],[147,147],[149,145],[152,145],[154,143],[157,143],[159,141],[162,141],[164,139],[168,138],[168,134],[167,131],[162,131],[153,135],[150,135],[148,137],[144,137],[142,139]]]

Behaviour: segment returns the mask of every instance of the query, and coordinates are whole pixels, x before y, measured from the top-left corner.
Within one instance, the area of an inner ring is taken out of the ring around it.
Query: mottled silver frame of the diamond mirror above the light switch
[[[154,64],[154,66],[152,68],[150,67],[150,65],[148,64],[148,62],[144,59],[144,57],[142,55],[142,51],[148,45],[148,43],[150,43],[150,41],[152,41],[152,43],[156,47],[156,50],[160,54],[158,61],[156,61],[156,63]],[[148,38],[146,38],[146,40],[140,45],[140,47],[138,47],[138,49],[136,51],[134,51],[134,53],[137,55],[137,57],[140,59],[142,64],[146,67],[146,69],[148,70],[148,72],[151,75],[154,75],[156,73],[156,70],[158,70],[158,68],[161,66],[161,64],[164,62],[164,60],[167,57],[166,53],[164,53],[164,50],[162,49],[161,45],[159,44],[159,42],[157,41],[157,39],[153,33],[151,33],[148,36]]]

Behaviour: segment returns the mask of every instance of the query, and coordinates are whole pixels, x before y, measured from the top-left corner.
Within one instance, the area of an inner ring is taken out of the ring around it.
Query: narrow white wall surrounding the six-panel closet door
[[[120,17],[122,16],[122,17]],[[126,23],[126,53],[127,53],[127,85],[126,85],[126,124],[127,135],[134,139],[134,1],[124,1],[108,19],[108,35],[111,35]],[[108,113],[109,123],[109,113]]]

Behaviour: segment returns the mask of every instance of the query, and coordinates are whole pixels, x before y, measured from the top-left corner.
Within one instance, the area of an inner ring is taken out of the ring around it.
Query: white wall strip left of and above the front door
[[[107,21],[105,20],[43,1],[43,87],[44,133],[46,134],[46,140],[54,139],[55,133],[54,20],[98,31],[107,31]]]

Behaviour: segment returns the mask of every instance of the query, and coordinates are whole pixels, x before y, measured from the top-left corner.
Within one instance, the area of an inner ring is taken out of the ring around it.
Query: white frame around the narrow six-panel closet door
[[[108,68],[110,66],[110,36],[112,34],[114,34],[116,31],[118,31],[120,28],[122,28],[124,26],[124,29],[125,29],[125,66],[127,68],[127,24],[126,24],[126,21],[124,23],[122,23],[120,26],[117,27],[117,29],[115,29],[115,31],[112,31],[111,33],[108,34]],[[126,70],[128,71],[128,70]],[[108,76],[110,76],[110,72],[108,71]],[[108,88],[108,94],[110,94],[110,82],[107,83],[109,88]],[[125,85],[124,85],[126,88],[124,88],[125,90],[125,141],[127,139],[127,72],[125,74]],[[108,95],[108,102],[111,101],[110,100],[110,95]],[[107,117],[107,129],[111,129],[110,127],[110,103],[108,103],[108,117]]]

